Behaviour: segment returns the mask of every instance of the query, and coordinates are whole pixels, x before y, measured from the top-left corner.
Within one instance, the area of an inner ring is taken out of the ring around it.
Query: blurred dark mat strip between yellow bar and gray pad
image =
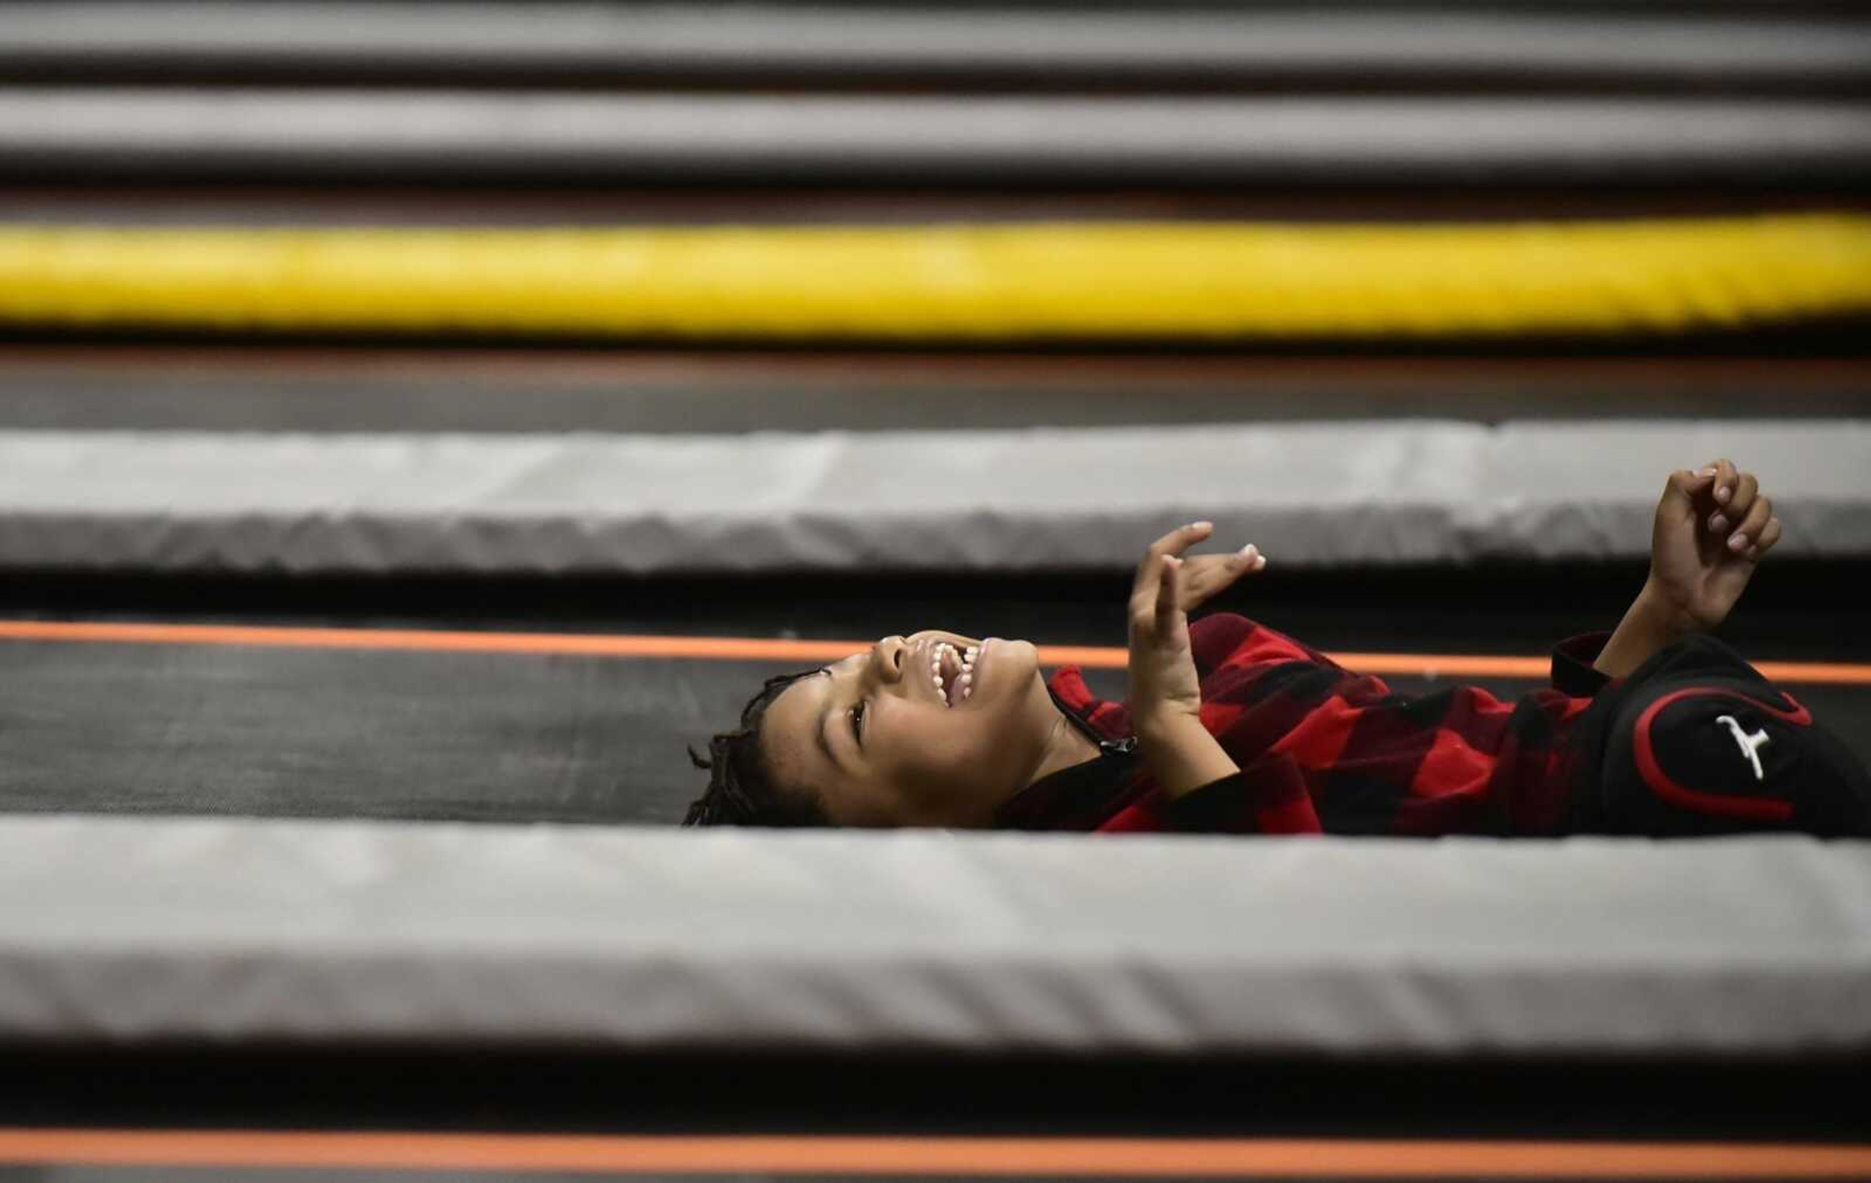
[[[1849,419],[1864,357],[1358,357],[19,346],[0,428],[885,432],[1478,419]]]

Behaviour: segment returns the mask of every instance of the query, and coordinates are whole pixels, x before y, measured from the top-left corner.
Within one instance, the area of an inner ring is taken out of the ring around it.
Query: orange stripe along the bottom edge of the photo
[[[1871,1146],[0,1131],[0,1162],[853,1176],[1850,1179]]]

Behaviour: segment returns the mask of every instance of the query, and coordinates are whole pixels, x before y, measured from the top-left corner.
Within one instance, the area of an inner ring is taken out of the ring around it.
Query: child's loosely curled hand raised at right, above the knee
[[[1646,592],[1684,628],[1716,628],[1776,542],[1779,518],[1753,473],[1733,460],[1671,473],[1650,531]]]

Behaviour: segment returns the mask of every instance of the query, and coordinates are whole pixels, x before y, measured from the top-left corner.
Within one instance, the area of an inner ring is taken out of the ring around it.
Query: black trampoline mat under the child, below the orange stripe
[[[793,663],[810,667],[816,662]],[[0,811],[674,824],[771,662],[0,641]],[[1121,669],[1089,669],[1123,697]],[[1403,693],[1450,678],[1386,678]],[[1538,682],[1478,680],[1510,699]],[[1871,763],[1871,688],[1796,686]]]

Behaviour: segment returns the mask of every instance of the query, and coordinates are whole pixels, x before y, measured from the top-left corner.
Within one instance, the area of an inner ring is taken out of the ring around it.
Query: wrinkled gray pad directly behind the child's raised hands
[[[1671,469],[1761,473],[1783,555],[1871,555],[1871,420],[745,435],[0,432],[0,566],[1130,566],[1212,520],[1295,566],[1630,559]]]

